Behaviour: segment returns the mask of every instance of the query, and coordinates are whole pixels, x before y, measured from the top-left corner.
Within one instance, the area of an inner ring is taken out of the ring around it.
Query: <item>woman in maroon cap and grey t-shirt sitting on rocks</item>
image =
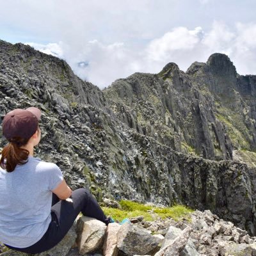
[[[79,212],[109,223],[86,189],[72,191],[56,164],[33,157],[40,117],[38,108],[15,109],[2,124],[10,143],[0,155],[0,241],[26,253],[58,244]]]

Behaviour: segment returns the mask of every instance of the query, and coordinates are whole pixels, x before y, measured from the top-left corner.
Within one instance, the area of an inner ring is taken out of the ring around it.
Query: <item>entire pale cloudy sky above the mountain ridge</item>
[[[104,88],[168,62],[186,69],[227,54],[239,74],[256,74],[254,0],[0,0],[0,38],[63,58]],[[86,63],[86,65],[78,65]]]

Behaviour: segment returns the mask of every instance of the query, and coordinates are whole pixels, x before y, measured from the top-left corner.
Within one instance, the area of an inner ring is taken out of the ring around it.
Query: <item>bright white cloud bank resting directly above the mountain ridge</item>
[[[231,29],[223,22],[214,21],[209,31],[201,27],[173,28],[150,40],[139,51],[124,42],[104,44],[97,39],[75,45],[70,42],[29,44],[65,59],[77,76],[104,88],[134,72],[157,73],[168,62],[175,62],[186,70],[194,61],[207,61],[214,52],[228,54],[239,74],[252,74],[256,70],[255,38],[256,24],[237,23],[236,28]]]

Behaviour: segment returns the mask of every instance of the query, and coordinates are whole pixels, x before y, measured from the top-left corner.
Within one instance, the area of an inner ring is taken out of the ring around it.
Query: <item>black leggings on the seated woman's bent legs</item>
[[[6,246],[26,253],[45,252],[63,239],[70,227],[72,227],[79,212],[82,212],[85,216],[100,220],[108,225],[108,218],[106,218],[104,212],[100,209],[99,204],[87,189],[76,189],[72,192],[70,198],[73,202],[59,200],[55,194],[52,194],[52,221],[44,236],[37,243],[27,248],[15,248],[7,244]]]

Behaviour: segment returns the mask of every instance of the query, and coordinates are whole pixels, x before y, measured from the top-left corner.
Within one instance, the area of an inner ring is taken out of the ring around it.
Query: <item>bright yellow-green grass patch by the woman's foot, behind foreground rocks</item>
[[[154,221],[157,218],[166,219],[173,218],[178,221],[181,218],[189,216],[193,210],[184,205],[174,205],[172,207],[156,207],[150,205],[143,205],[129,200],[121,200],[119,202],[122,209],[114,209],[109,207],[102,207],[102,210],[107,216],[111,216],[114,220],[122,221],[124,218],[134,218],[143,216],[145,221]]]

